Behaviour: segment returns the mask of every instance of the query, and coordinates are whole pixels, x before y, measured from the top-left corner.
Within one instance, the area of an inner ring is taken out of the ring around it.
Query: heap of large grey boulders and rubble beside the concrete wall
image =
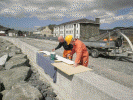
[[[12,43],[0,39],[0,100],[58,100],[46,79]]]

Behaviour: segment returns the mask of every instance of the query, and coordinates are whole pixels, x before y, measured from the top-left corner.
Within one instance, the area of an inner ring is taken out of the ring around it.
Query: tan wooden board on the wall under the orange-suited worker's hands
[[[61,71],[63,71],[67,75],[73,75],[73,74],[92,70],[92,69],[90,69],[88,67],[84,67],[82,65],[79,65],[77,67],[73,67],[73,65],[68,65],[68,64],[65,64],[63,62],[52,63],[52,65],[55,66],[56,68],[60,69]]]

